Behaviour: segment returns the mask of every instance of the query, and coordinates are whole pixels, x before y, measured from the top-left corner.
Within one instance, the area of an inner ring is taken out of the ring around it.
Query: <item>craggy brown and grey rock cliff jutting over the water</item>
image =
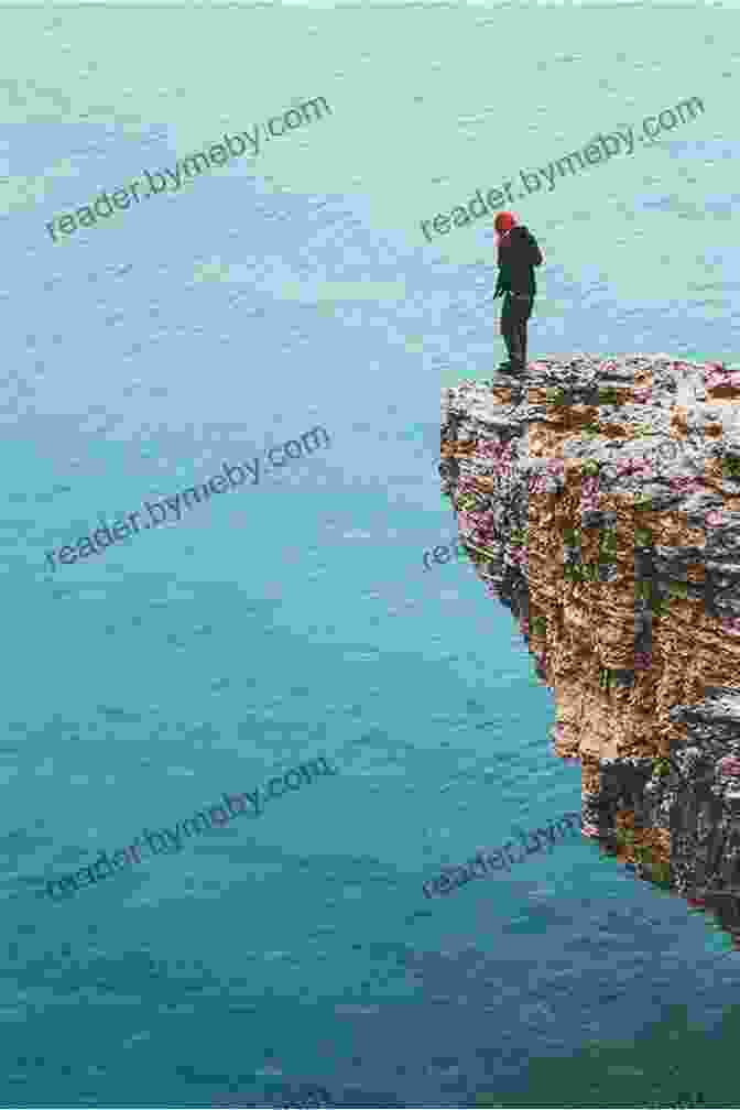
[[[463,382],[440,454],[580,760],[584,834],[740,942],[740,367],[578,355]]]

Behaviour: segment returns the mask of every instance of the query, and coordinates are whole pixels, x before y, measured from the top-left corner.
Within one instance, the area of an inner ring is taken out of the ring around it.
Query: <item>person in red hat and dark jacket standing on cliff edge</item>
[[[517,223],[511,212],[499,212],[494,221],[498,236],[497,296],[504,296],[501,335],[508,363],[499,367],[508,374],[524,375],[527,370],[527,321],[531,315],[537,286],[534,268],[543,262],[537,240]]]

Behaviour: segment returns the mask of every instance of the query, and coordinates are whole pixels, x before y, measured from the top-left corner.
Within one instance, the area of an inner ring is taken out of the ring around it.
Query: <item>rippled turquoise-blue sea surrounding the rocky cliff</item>
[[[440,384],[486,376],[503,343],[490,220],[434,244],[419,221],[699,95],[660,143],[515,209],[546,258],[530,353],[737,357],[737,13],[3,24],[0,1102],[587,1104],[589,1046],[653,1037],[611,1094],[729,1098],[696,1042],[734,1043],[738,961],[682,900],[578,839],[424,898],[440,867],[578,808],[580,777],[507,610],[464,562],[424,568],[455,534]],[[55,244],[44,229],[318,95],[330,115],[251,162]],[[315,425],[326,450],[50,571]],[[259,821],[44,897],[317,755],[338,774]]]

